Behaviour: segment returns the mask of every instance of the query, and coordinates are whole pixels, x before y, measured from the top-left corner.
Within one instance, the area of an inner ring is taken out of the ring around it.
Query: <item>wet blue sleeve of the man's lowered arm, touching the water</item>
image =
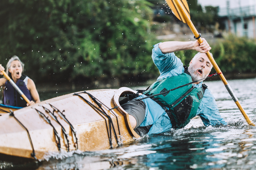
[[[197,114],[199,115],[205,126],[215,126],[228,123],[220,116],[219,109],[217,107],[216,101],[209,89],[204,92],[204,97],[198,107]]]

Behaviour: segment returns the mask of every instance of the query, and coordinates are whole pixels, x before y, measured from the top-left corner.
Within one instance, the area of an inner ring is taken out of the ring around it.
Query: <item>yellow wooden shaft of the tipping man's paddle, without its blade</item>
[[[194,26],[194,24],[192,23],[190,17],[188,16],[188,13],[186,13],[186,9],[184,8],[184,6],[182,4],[180,4],[179,0],[174,0],[176,2],[176,4],[178,5],[178,7],[180,8],[180,12],[182,13],[182,16],[184,17],[184,19],[186,20],[186,23],[188,24],[189,28],[192,30],[192,32],[194,33],[195,37],[199,37],[199,33],[196,30],[196,27]],[[199,44],[201,44],[203,42],[202,38],[198,38],[197,41],[199,42]],[[210,52],[208,51],[206,53],[207,57],[209,58],[210,62],[212,63],[213,68],[216,70],[216,72],[218,73],[220,79],[222,80],[222,82],[224,83],[226,89],[228,90],[230,96],[232,97],[232,99],[235,101],[236,106],[239,108],[239,110],[241,111],[242,115],[244,116],[246,122],[249,125],[255,126],[254,123],[252,123],[252,121],[250,120],[250,118],[248,117],[248,115],[245,113],[243,107],[240,105],[236,95],[234,94],[233,90],[231,89],[231,87],[229,86],[226,78],[223,76],[222,72],[220,71],[219,66],[217,65],[217,63],[215,62],[215,60],[213,59],[212,55],[210,54]]]

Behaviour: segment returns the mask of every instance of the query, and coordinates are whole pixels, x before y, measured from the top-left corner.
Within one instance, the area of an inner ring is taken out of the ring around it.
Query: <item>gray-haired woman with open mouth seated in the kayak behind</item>
[[[19,57],[14,55],[8,61],[6,68],[8,76],[20,88],[30,102],[27,103],[6,78],[0,78],[0,86],[4,89],[3,104],[8,106],[26,107],[40,102],[34,81],[22,74],[24,71],[24,63],[20,61]],[[3,70],[4,67],[0,64],[1,75],[3,75]]]

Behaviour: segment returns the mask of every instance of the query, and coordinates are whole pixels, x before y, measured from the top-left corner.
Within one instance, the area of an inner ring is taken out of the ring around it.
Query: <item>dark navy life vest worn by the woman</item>
[[[32,100],[31,94],[27,88],[27,85],[24,82],[24,79],[28,78],[26,75],[21,75],[20,79],[16,82],[16,85],[20,90],[25,94],[29,101]],[[4,105],[16,106],[16,107],[26,107],[27,102],[21,97],[21,95],[15,90],[12,84],[9,81],[5,82],[4,88]]]

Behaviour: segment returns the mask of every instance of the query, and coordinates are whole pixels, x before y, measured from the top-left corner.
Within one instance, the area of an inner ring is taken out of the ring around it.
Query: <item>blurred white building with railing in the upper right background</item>
[[[256,39],[256,0],[229,0],[219,9],[226,30],[236,36]],[[247,6],[245,6],[247,5]],[[232,8],[233,7],[233,8]]]

